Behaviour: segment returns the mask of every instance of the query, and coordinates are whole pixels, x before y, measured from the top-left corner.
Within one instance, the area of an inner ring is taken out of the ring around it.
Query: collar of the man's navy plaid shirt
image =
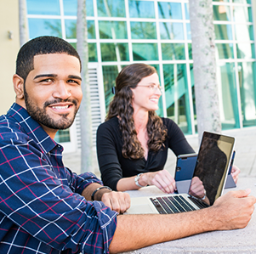
[[[9,109],[8,114],[20,123],[20,126],[23,127],[27,135],[42,148],[43,152],[48,153],[58,145],[54,139],[50,138],[48,133],[43,130],[43,127],[31,118],[26,109],[19,104],[14,103]]]

